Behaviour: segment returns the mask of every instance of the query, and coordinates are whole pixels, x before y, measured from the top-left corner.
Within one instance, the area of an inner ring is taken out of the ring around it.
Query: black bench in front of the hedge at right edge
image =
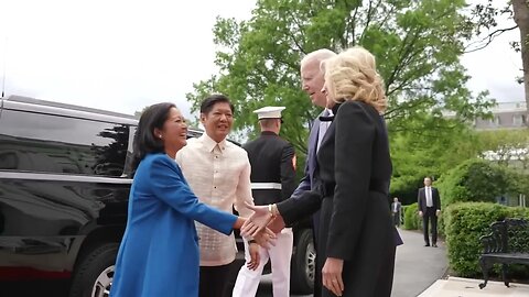
[[[490,234],[481,237],[483,253],[479,257],[484,288],[488,282],[488,271],[494,264],[501,264],[501,278],[508,287],[507,266],[509,264],[529,265],[529,222],[523,219],[505,219],[490,224]]]

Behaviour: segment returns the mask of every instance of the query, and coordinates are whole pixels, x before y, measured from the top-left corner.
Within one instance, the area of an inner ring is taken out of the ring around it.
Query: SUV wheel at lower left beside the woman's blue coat
[[[108,297],[118,249],[118,243],[106,243],[86,253],[75,270],[69,297]]]

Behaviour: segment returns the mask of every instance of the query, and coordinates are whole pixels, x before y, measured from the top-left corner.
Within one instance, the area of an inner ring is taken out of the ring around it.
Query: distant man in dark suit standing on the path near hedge
[[[428,224],[432,224],[432,246],[438,248],[438,217],[441,213],[441,198],[439,190],[432,187],[432,179],[424,177],[424,187],[419,189],[417,202],[419,204],[419,216],[422,218],[422,230],[424,233],[424,246],[430,246]]]

